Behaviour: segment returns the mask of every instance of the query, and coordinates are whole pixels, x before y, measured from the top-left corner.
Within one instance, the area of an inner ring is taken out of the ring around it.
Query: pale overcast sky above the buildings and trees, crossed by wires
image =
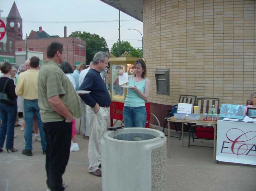
[[[0,0],[1,17],[7,17],[14,0]],[[118,10],[100,0],[15,0],[23,19],[23,39],[31,30],[43,30],[49,35],[67,36],[85,31],[104,37],[111,50],[118,41]],[[120,39],[129,41],[134,48],[142,48],[143,23],[120,12]]]

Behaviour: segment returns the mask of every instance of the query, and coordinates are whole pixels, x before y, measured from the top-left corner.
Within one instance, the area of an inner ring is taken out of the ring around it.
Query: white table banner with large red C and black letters
[[[216,160],[256,165],[256,123],[218,121]]]

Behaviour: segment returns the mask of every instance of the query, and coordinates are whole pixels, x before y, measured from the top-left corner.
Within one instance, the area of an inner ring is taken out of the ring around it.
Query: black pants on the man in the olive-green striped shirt
[[[62,174],[69,160],[72,122],[65,121],[43,123],[45,131],[47,174],[46,184],[51,191],[63,191]]]

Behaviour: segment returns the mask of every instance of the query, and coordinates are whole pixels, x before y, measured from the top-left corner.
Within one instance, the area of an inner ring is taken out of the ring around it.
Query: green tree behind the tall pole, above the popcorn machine
[[[135,49],[131,46],[128,41],[120,42],[120,55],[122,55],[125,51],[127,51],[132,57],[142,57],[142,52],[140,49]],[[112,54],[118,57],[118,41],[112,45]]]

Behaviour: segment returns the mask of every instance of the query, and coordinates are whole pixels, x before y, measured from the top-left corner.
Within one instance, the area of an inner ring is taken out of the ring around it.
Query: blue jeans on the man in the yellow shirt
[[[24,99],[24,115],[26,121],[26,129],[24,133],[26,150],[32,150],[32,131],[34,116],[37,119],[38,129],[41,137],[42,149],[46,150],[45,133],[43,131],[43,123],[39,114],[38,100],[25,100]]]

